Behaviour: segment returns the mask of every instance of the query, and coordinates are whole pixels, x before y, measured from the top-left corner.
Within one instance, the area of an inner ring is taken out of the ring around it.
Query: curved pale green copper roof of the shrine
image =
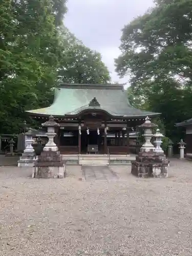
[[[160,113],[143,111],[130,105],[123,85],[60,84],[48,108],[27,111],[32,115],[74,116],[84,110],[101,110],[114,117],[146,117]]]

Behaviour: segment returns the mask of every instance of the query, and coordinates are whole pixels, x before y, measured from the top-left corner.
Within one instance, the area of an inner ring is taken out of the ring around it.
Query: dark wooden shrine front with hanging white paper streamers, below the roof
[[[40,118],[45,122],[47,118]],[[130,133],[144,122],[140,119],[112,119],[105,113],[90,113],[79,118],[55,118],[59,128],[55,131],[55,143],[61,154],[90,154],[93,145],[98,151],[91,154],[136,153],[141,145]]]

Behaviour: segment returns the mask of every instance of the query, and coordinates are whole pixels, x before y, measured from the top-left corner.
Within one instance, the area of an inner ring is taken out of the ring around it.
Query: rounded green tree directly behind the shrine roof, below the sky
[[[101,55],[84,46],[70,31],[60,30],[63,47],[59,79],[71,83],[109,83],[111,78]]]

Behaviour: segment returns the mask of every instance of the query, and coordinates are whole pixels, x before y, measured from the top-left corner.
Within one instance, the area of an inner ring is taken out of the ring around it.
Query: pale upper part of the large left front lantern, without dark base
[[[48,137],[48,142],[44,147],[44,151],[58,151],[58,147],[56,146],[54,142],[54,137],[56,135],[55,133],[55,127],[59,127],[59,124],[54,121],[53,116],[49,116],[49,120],[45,123],[42,123],[42,126],[47,127],[47,137]]]

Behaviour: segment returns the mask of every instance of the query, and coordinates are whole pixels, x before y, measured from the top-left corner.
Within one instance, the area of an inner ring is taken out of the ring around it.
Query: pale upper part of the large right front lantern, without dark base
[[[144,129],[144,138],[145,138],[145,143],[141,147],[142,152],[150,152],[150,151],[155,151],[154,145],[151,143],[151,138],[153,136],[152,134],[152,129],[157,127],[155,123],[152,123],[150,121],[150,118],[147,116],[145,118],[145,122],[141,124],[141,127]]]

